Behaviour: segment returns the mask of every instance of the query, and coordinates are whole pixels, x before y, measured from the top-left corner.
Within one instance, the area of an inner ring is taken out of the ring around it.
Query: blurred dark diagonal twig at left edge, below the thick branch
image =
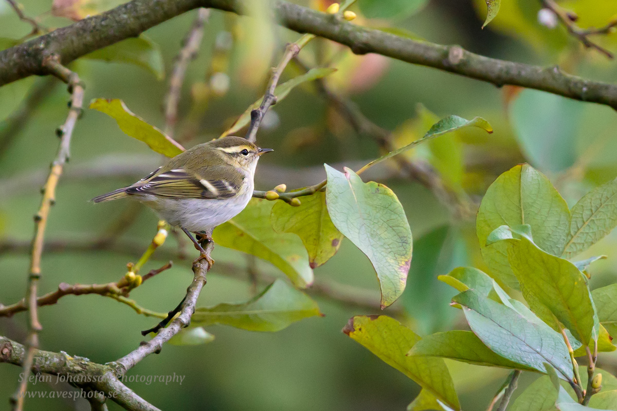
[[[0,124],[0,158],[9,151],[8,149],[15,137],[28,123],[36,108],[54,91],[56,84],[57,79],[51,76],[38,79],[20,107],[10,113],[6,120],[2,121]]]

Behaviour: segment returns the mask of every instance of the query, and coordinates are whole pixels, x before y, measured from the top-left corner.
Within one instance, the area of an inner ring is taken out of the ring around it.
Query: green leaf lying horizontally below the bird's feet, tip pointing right
[[[191,324],[202,327],[223,324],[242,330],[275,332],[296,321],[320,315],[317,303],[309,296],[284,280],[276,280],[246,303],[197,307]]]

